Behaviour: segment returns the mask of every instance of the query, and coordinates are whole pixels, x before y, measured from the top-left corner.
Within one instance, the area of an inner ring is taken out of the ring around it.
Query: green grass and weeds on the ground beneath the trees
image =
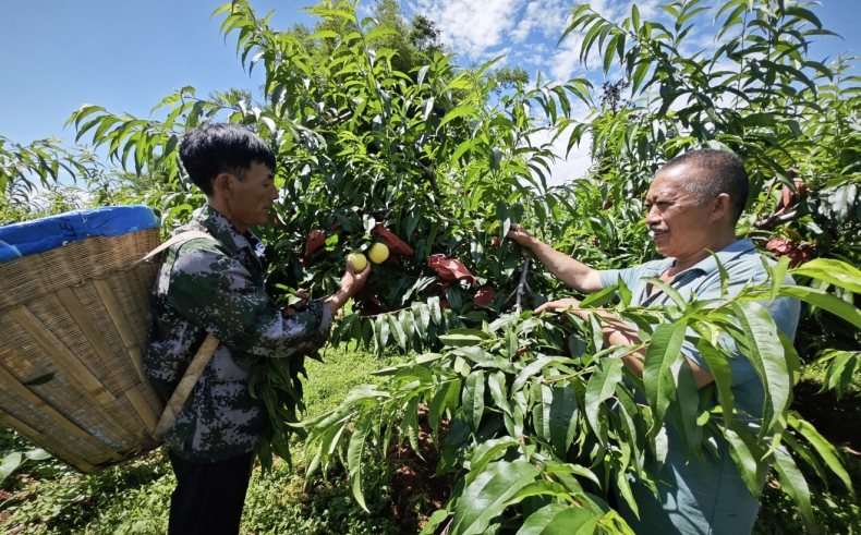
[[[354,348],[328,350],[324,363],[307,363],[305,386],[307,416],[323,414],[360,384],[374,381],[368,374],[403,361],[387,354],[381,360]],[[818,375],[817,375],[818,374]],[[803,380],[821,379],[815,369]],[[856,382],[861,382],[857,380]],[[847,396],[857,396],[861,412],[861,388],[854,385]],[[856,416],[856,415],[853,415]],[[861,414],[857,414],[861,417]],[[0,429],[0,450],[26,450],[28,442],[9,429]],[[305,482],[306,460],[302,445],[295,445],[296,470],[276,463],[272,473],[256,470],[248,488],[243,515],[243,534],[381,534],[401,533],[391,520],[386,497],[387,471],[369,466],[365,474],[379,479],[365,482],[371,514],[353,500],[345,474],[336,467],[327,478]],[[845,455],[853,481],[861,479],[861,459]],[[372,461],[373,462],[373,461]],[[813,508],[822,533],[859,534],[861,509],[857,498],[830,476],[827,484],[802,467],[811,484]],[[371,479],[371,478],[368,478]],[[8,534],[162,534],[167,532],[170,494],[175,479],[163,450],[90,476],[82,476],[52,460],[28,461],[2,485],[0,527]],[[766,483],[762,510],[754,528],[757,535],[804,533],[791,500],[776,481]]]

